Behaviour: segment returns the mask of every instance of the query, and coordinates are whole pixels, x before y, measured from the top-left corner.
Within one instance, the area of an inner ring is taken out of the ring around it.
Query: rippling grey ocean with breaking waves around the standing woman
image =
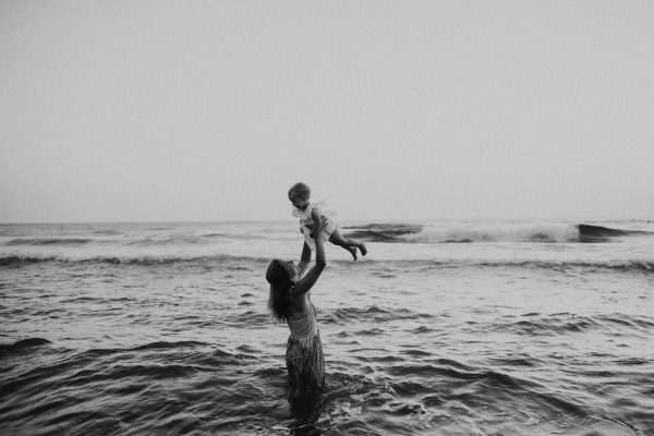
[[[290,401],[298,222],[0,225],[1,435],[654,435],[654,221],[343,221]]]

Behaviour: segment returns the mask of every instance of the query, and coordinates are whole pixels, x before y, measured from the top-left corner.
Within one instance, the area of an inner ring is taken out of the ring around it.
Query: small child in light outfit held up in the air
[[[329,241],[350,252],[356,261],[356,249],[362,255],[367,254],[365,244],[353,239],[344,239],[334,221],[336,213],[329,210],[325,202],[310,202],[311,189],[304,183],[295,183],[289,190],[289,199],[293,204],[293,216],[300,218],[300,231],[304,241],[313,251],[316,250],[315,238]]]

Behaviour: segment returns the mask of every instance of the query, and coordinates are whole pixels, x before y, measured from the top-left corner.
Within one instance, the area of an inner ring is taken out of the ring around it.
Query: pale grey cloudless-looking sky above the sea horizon
[[[0,222],[654,219],[652,1],[0,0]]]

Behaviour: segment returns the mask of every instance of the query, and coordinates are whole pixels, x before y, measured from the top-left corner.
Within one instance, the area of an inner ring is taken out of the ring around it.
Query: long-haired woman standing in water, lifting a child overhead
[[[292,261],[275,259],[266,271],[266,280],[270,283],[268,310],[274,319],[286,322],[291,330],[286,354],[291,397],[325,388],[325,360],[316,326],[316,308],[308,299],[308,291],[327,265],[320,238],[316,238],[316,264],[302,277],[311,262],[311,253],[304,243],[300,267]]]

